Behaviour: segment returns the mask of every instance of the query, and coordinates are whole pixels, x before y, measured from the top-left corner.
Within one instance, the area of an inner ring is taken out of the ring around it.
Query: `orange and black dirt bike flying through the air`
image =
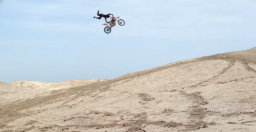
[[[124,26],[124,24],[125,24],[124,20],[118,19],[118,18],[120,18],[120,17],[112,16],[110,22],[106,22],[105,24],[102,24],[102,26],[103,25],[106,26],[104,28],[105,33],[107,33],[107,34],[111,33],[111,28],[116,26],[116,21],[120,26]]]

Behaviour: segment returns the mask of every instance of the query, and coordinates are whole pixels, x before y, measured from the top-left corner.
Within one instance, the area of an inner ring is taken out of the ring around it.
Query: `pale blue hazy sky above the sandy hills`
[[[0,0],[0,81],[115,78],[256,47],[255,0]],[[104,33],[100,13],[125,20]]]

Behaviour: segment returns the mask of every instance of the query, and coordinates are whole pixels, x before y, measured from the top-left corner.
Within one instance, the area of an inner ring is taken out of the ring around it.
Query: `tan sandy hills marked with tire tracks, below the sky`
[[[255,59],[252,48],[61,89],[1,82],[0,131],[254,132]]]

